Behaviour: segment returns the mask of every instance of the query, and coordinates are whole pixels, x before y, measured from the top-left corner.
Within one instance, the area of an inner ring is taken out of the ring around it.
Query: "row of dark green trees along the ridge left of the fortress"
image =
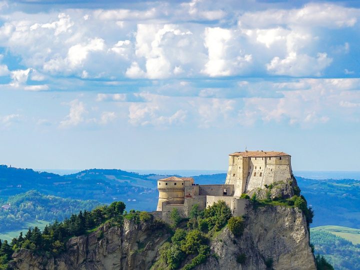
[[[62,222],[55,221],[46,225],[41,232],[38,227],[29,228],[23,236],[22,232],[11,243],[6,240],[0,244],[0,268],[5,268],[11,255],[19,248],[27,248],[46,256],[56,256],[65,250],[65,242],[72,236],[84,234],[93,230],[104,222],[111,222],[114,225],[121,225],[125,204],[122,201],[112,202],[110,205],[100,206],[92,211],[80,211],[77,215],[72,214]],[[148,213],[146,213],[148,215]],[[129,219],[148,220],[143,212],[133,211]],[[125,213],[125,216],[128,214]],[[100,232],[101,234],[101,232]],[[103,236],[103,232],[102,232]],[[102,237],[98,235],[98,237]],[[1,242],[1,241],[0,241]]]

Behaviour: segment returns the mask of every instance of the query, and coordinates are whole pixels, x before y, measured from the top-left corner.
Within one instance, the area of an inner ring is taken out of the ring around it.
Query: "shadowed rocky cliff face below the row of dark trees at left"
[[[169,236],[162,223],[135,224],[125,219],[121,228],[105,224],[89,235],[70,238],[67,250],[55,259],[20,249],[9,266],[21,270],[148,269]]]

